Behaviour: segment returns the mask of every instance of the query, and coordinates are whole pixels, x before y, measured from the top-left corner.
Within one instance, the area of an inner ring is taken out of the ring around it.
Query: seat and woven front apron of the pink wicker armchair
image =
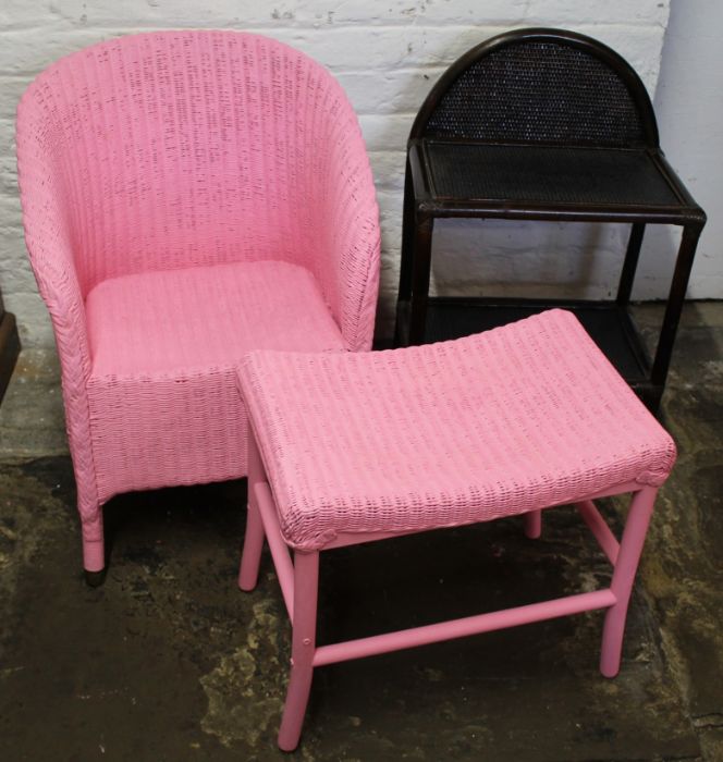
[[[252,348],[345,348],[311,274],[280,261],[105,281],[88,295],[86,316],[101,502],[131,490],[244,476],[241,358]]]

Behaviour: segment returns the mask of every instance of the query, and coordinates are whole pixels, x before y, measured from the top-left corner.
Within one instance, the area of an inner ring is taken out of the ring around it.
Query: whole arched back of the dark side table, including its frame
[[[563,146],[658,146],[645,85],[616,52],[561,29],[519,29],[442,75],[409,135]]]

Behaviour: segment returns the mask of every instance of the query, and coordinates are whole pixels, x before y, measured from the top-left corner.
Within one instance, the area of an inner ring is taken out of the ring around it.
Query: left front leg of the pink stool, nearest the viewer
[[[319,553],[294,553],[294,620],[291,678],[279,730],[279,748],[293,751],[298,746],[306,704],[314,675],[316,648]]]

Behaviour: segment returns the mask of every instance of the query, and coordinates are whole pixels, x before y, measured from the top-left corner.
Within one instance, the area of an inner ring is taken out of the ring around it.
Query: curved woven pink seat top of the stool
[[[564,310],[367,354],[240,369],[285,541],[405,532],[659,484],[675,445]]]

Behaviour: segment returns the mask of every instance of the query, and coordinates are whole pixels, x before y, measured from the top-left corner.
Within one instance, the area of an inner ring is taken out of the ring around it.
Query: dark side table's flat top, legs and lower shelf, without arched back
[[[555,171],[555,168],[557,170]],[[399,346],[455,339],[551,307],[572,309],[651,410],[662,397],[703,211],[660,149],[507,146],[410,140],[397,303]],[[434,220],[628,222],[630,239],[615,300],[429,297]],[[647,224],[683,228],[654,357],[628,314]]]

